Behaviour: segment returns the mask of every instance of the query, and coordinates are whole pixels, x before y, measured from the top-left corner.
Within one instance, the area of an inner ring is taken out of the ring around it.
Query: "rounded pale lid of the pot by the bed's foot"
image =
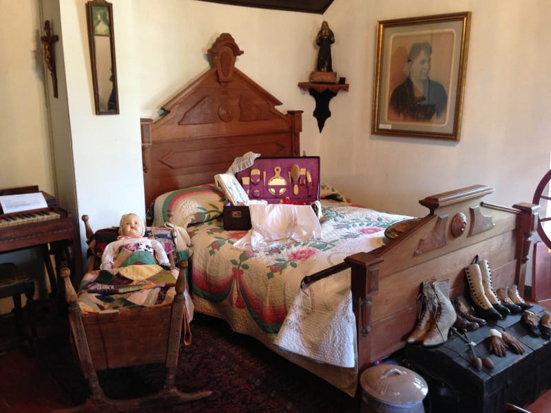
[[[387,403],[422,401],[428,385],[416,372],[395,364],[380,364],[365,370],[360,376],[364,392]]]

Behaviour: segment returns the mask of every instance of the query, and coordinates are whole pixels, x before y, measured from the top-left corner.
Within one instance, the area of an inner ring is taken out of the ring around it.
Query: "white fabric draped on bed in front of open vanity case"
[[[322,226],[310,205],[249,205],[251,229],[233,246],[262,250],[322,237]]]

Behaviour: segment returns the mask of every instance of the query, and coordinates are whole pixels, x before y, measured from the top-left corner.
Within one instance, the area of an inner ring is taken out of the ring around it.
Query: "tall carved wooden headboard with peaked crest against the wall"
[[[302,111],[282,103],[236,67],[243,54],[222,33],[208,50],[212,68],[162,105],[160,118],[141,119],[145,206],[174,189],[214,182],[248,151],[299,156]]]

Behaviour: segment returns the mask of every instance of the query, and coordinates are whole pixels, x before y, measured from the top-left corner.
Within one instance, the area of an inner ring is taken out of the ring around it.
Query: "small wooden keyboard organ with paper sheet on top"
[[[0,195],[32,192],[39,192],[38,186],[0,189]],[[50,287],[52,293],[56,293],[56,275],[50,261],[50,253],[54,255],[57,273],[61,269],[62,262],[66,262],[68,266],[72,267],[70,246],[72,246],[74,238],[73,223],[71,214],[58,206],[56,198],[41,192],[48,208],[3,213],[0,207],[0,253],[43,246],[44,263],[48,271]]]

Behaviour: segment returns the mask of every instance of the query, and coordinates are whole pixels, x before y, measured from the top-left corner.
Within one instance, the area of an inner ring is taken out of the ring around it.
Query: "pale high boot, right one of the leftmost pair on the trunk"
[[[455,323],[455,319],[457,319],[455,309],[450,301],[450,280],[442,279],[435,281],[433,282],[433,288],[438,303],[438,310],[435,314],[433,328],[430,329],[423,340],[424,346],[437,346],[446,342],[448,332],[450,332],[450,328]]]

